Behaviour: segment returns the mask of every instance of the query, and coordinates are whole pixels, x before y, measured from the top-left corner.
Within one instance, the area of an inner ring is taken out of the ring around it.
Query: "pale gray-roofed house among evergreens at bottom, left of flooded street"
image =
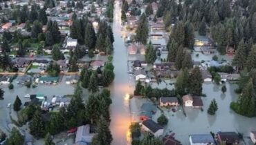
[[[95,133],[91,133],[89,124],[79,126],[75,135],[75,144],[73,145],[89,145]]]

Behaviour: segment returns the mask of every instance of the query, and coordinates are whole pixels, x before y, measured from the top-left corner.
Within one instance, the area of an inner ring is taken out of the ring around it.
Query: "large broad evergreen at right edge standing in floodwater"
[[[255,90],[252,79],[248,81],[238,101],[239,113],[248,117],[255,116]]]

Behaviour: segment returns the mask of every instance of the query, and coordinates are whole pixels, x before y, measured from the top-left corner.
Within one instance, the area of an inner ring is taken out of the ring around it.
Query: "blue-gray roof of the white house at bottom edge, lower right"
[[[199,144],[199,143],[214,143],[214,139],[210,134],[203,134],[203,135],[190,135],[192,139],[192,143]]]

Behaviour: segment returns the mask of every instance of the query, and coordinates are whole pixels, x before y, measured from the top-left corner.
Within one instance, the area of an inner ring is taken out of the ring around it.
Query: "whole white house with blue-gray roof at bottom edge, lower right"
[[[190,145],[214,145],[214,139],[210,134],[189,135]]]

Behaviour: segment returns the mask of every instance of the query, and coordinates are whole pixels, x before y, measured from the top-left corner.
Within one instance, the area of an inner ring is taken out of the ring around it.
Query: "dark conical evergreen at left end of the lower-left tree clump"
[[[29,129],[31,135],[34,135],[36,138],[44,137],[45,135],[44,122],[39,108],[35,111],[33,119],[30,122]]]

